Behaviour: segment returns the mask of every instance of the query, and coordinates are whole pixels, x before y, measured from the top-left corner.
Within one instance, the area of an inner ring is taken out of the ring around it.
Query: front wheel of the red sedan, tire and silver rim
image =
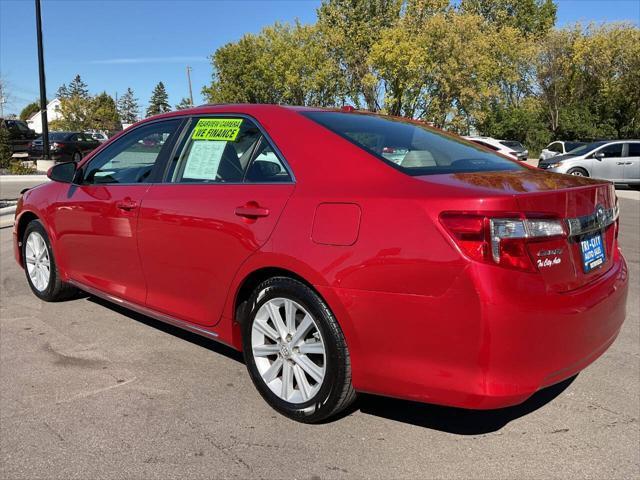
[[[22,258],[31,291],[46,302],[66,300],[76,289],[60,280],[53,250],[40,220],[32,220],[22,237]]]

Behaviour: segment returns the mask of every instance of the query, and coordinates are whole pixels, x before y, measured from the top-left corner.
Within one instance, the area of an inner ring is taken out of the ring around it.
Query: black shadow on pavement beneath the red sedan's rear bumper
[[[512,420],[545,406],[571,385],[576,377],[540,390],[520,405],[496,410],[466,410],[364,394],[359,396],[354,409],[367,415],[442,432],[480,435],[500,430]]]

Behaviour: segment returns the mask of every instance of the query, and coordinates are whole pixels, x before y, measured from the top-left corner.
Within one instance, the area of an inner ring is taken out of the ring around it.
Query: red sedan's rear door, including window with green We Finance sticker
[[[268,240],[293,190],[282,156],[254,121],[193,118],[140,212],[147,306],[215,325],[235,273]]]

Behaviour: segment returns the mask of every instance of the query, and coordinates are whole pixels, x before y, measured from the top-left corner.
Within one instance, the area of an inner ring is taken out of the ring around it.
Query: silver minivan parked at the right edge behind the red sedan
[[[590,143],[565,155],[540,160],[538,167],[551,172],[640,185],[640,140]]]

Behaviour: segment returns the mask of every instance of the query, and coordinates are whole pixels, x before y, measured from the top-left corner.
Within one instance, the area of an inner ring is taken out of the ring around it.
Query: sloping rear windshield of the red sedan
[[[342,112],[302,115],[412,176],[524,169],[480,146],[407,120]]]

